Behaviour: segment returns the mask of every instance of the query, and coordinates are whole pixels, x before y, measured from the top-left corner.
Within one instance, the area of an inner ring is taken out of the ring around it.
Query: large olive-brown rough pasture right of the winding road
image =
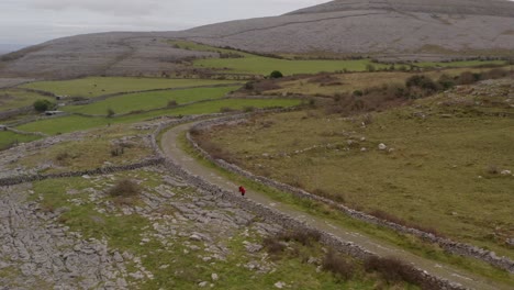
[[[495,116],[512,109],[461,105],[500,96],[463,94],[455,104],[442,96],[371,118],[273,114],[208,136],[256,174],[514,257],[514,177],[499,174],[513,170],[514,119]]]

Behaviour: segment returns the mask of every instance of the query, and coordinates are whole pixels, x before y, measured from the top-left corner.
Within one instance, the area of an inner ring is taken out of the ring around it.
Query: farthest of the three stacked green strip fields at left
[[[227,83],[227,81],[212,79],[90,77],[74,80],[38,81],[23,85],[22,88],[44,90],[60,96],[94,98],[115,92],[209,86],[220,83]]]

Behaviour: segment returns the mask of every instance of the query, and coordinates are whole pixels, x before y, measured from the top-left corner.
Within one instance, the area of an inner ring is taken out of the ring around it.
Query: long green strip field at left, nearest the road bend
[[[99,126],[108,126],[109,124],[118,123],[135,123],[144,120],[161,116],[161,115],[190,115],[190,114],[209,114],[219,113],[222,109],[228,108],[233,110],[243,110],[245,108],[269,108],[269,107],[292,107],[300,104],[300,100],[292,99],[269,99],[269,100],[242,100],[228,99],[212,102],[195,103],[176,109],[166,109],[141,114],[131,114],[120,118],[86,118],[78,115],[51,118],[37,122],[27,123],[18,126],[18,130],[26,132],[43,132],[49,135],[59,133],[69,133],[82,131]]]

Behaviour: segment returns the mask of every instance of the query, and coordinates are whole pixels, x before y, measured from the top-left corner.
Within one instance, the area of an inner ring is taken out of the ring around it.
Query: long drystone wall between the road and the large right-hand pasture
[[[228,116],[228,118],[223,118],[223,119],[209,120],[209,121],[202,122],[200,124],[197,124],[191,130],[205,130],[205,129],[209,129],[209,127],[215,126],[215,125],[226,124],[226,123],[230,123],[230,122],[237,122],[237,120],[244,121],[244,118],[245,118],[244,115],[234,115],[234,116]],[[329,204],[331,207],[338,209],[339,211],[344,212],[345,214],[347,214],[347,215],[349,215],[349,216],[351,216],[354,219],[358,219],[360,221],[377,224],[377,225],[380,225],[380,226],[386,226],[388,228],[392,228],[392,230],[394,230],[396,232],[400,232],[400,233],[406,233],[406,234],[415,235],[415,236],[417,236],[417,237],[420,237],[420,238],[422,238],[424,241],[438,244],[442,248],[444,248],[445,250],[447,250],[449,253],[477,258],[477,259],[483,260],[483,261],[485,261],[485,263],[488,263],[490,265],[499,267],[501,269],[507,270],[510,272],[514,272],[514,261],[509,259],[507,257],[499,257],[499,256],[496,256],[496,254],[494,252],[482,249],[482,248],[479,248],[479,247],[476,247],[476,246],[472,246],[472,245],[468,245],[468,244],[457,243],[457,242],[454,242],[454,241],[451,241],[449,238],[443,238],[443,237],[436,236],[436,235],[434,235],[432,233],[426,233],[426,232],[420,231],[417,228],[412,228],[412,227],[403,226],[403,225],[392,223],[392,222],[389,222],[389,221],[386,221],[386,220],[381,220],[381,219],[378,219],[376,216],[369,215],[367,213],[364,213],[364,212],[360,212],[360,211],[357,211],[357,210],[353,210],[353,209],[350,209],[350,208],[348,208],[348,207],[346,207],[344,204],[337,203],[337,202],[335,202],[335,201],[333,201],[331,199],[326,199],[326,198],[323,198],[323,197],[319,197],[316,194],[309,193],[309,192],[306,192],[306,191],[304,191],[302,189],[278,182],[278,181],[275,181],[275,180],[266,178],[266,177],[253,175],[252,172],[249,172],[247,170],[244,170],[244,169],[239,168],[236,165],[226,163],[225,160],[222,160],[222,159],[214,159],[212,156],[209,155],[209,153],[203,150],[198,145],[198,143],[195,143],[191,138],[191,135],[189,133],[187,134],[187,138],[190,142],[190,144],[205,159],[216,164],[217,166],[220,166],[220,167],[222,167],[222,168],[224,168],[224,169],[226,169],[228,171],[235,172],[235,174],[237,174],[239,176],[244,176],[244,177],[246,177],[248,179],[252,179],[252,180],[259,181],[259,182],[261,182],[261,183],[264,183],[264,185],[266,185],[268,187],[276,188],[276,189],[278,189],[280,191],[290,192],[290,193],[292,193],[292,194],[294,194],[295,197],[299,197],[299,198],[315,200],[315,201],[319,201],[319,202]]]

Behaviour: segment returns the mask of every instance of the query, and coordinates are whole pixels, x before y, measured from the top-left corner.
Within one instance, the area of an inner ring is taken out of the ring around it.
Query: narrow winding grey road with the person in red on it
[[[163,152],[165,153],[166,157],[172,159],[177,165],[187,169],[191,174],[197,175],[203,178],[204,180],[216,185],[223,189],[233,191],[234,194],[237,194],[238,185],[235,185],[234,182],[220,176],[216,172],[216,170],[199,164],[194,158],[189,156],[179,145],[179,137],[183,134],[183,132],[189,130],[194,124],[197,123],[179,125],[170,129],[169,131],[163,134],[160,142]],[[377,239],[376,237],[368,236],[359,232],[349,231],[340,226],[335,226],[321,217],[313,216],[306,212],[301,212],[287,203],[275,201],[262,192],[248,190],[246,196],[248,199],[255,202],[278,210],[297,220],[301,220],[308,225],[331,233],[343,241],[351,242],[356,245],[359,245],[365,249],[372,252],[379,256],[396,257],[399,259],[412,264],[418,269],[425,270],[431,275],[449,280],[451,282],[460,283],[466,288],[477,290],[512,289],[512,287],[510,286],[499,285],[485,278],[476,277],[463,270],[456,269],[451,266],[437,264],[436,261],[416,256],[398,246]]]

